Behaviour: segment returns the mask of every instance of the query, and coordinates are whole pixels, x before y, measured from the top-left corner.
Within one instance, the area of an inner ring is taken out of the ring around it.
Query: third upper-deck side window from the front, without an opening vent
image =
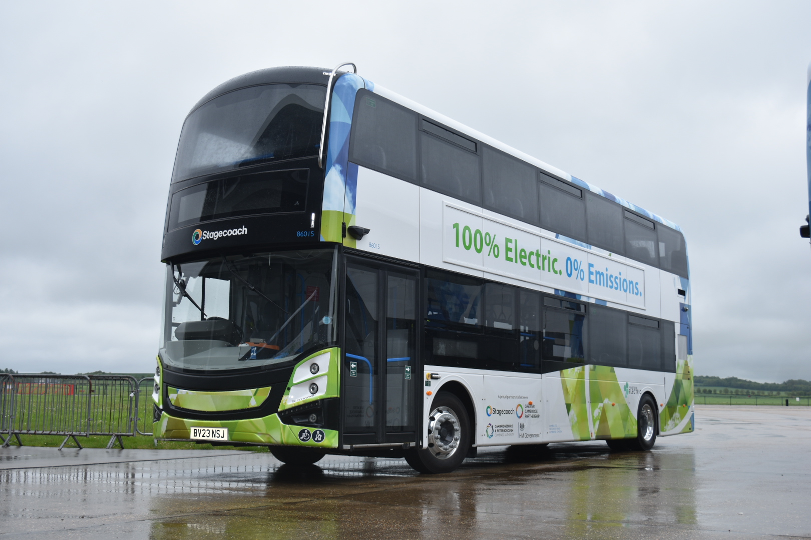
[[[484,147],[484,206],[529,223],[538,223],[535,169],[512,155]]]

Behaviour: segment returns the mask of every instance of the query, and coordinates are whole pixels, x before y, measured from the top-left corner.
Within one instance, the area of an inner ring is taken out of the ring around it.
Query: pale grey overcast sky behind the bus
[[[154,368],[200,97],[367,79],[679,223],[699,375],[811,379],[809,2],[2,2],[0,368]]]

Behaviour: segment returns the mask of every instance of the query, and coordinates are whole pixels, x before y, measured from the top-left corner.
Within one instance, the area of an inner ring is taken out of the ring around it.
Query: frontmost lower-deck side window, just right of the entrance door
[[[481,324],[482,281],[431,271],[427,277],[427,325],[476,330]]]

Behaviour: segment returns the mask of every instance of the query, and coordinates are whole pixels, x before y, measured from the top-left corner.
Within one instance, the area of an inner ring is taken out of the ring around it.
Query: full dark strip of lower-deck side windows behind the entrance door
[[[621,309],[428,270],[428,362],[554,372],[577,364],[673,372],[675,325]]]

